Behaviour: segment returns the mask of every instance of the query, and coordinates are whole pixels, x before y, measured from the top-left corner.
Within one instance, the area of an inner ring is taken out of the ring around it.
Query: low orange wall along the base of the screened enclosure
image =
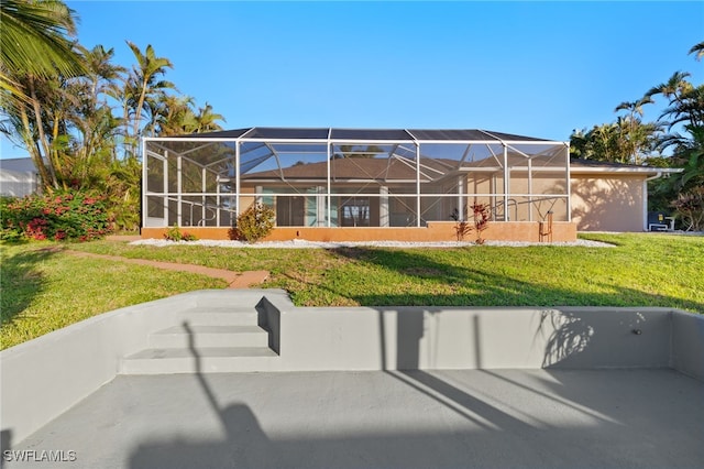
[[[142,228],[142,238],[163,239],[168,228]],[[491,222],[488,228],[482,232],[485,240],[495,241],[527,241],[539,242],[549,241],[550,236],[540,236],[540,223],[538,221],[508,221]],[[547,227],[543,226],[543,233]],[[229,228],[184,228],[199,239],[228,240],[230,238]],[[454,222],[433,221],[421,228],[317,228],[317,227],[277,227],[264,239],[264,241],[290,241],[295,239],[307,241],[457,241]],[[576,240],[576,223],[568,221],[556,221],[552,226],[553,242],[570,242]],[[465,236],[465,241],[474,241],[476,232],[472,231]]]

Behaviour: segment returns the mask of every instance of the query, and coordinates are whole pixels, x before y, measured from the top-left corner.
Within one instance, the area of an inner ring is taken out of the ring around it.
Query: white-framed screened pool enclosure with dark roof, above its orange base
[[[143,141],[144,227],[424,227],[466,217],[570,221],[565,142],[483,130],[251,128]]]

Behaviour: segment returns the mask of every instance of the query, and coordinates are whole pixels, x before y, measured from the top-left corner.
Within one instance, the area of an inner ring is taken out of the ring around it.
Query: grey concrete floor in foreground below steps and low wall
[[[12,447],[68,461],[3,467],[694,468],[703,396],[669,369],[119,375]]]

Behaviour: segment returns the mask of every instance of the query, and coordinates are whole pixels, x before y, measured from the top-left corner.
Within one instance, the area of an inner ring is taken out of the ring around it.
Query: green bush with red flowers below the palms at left
[[[110,233],[105,197],[56,190],[0,204],[0,237],[55,241],[90,241]]]

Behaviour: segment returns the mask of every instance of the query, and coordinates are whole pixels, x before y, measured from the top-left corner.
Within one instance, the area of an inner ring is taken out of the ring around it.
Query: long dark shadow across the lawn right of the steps
[[[362,306],[661,306],[704,313],[704,302],[598,283],[595,286],[602,292],[546,286],[490,272],[488,269],[438,262],[424,255],[422,250],[344,248],[331,252],[400,275],[393,294],[316,285]],[[409,279],[408,283],[403,282],[404,276]],[[437,286],[438,292],[414,293],[413,285],[418,281],[430,287]],[[446,293],[448,291],[451,293]]]

